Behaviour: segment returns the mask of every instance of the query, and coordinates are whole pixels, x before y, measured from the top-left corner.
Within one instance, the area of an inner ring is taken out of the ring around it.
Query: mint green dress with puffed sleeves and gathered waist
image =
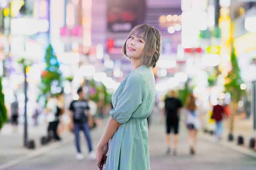
[[[155,104],[155,77],[140,66],[112,95],[110,116],[121,125],[109,141],[105,170],[150,170],[147,117]]]

